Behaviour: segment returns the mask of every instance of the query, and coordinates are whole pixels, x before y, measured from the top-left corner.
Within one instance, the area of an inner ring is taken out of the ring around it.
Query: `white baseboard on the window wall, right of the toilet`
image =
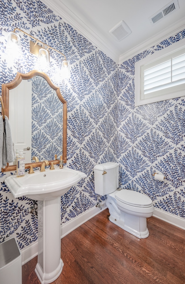
[[[171,213],[165,212],[161,209],[154,208],[153,217],[156,217],[158,219],[161,219],[167,223],[170,223],[176,227],[179,227],[181,229],[185,230],[185,219],[178,217],[176,215],[173,215]]]

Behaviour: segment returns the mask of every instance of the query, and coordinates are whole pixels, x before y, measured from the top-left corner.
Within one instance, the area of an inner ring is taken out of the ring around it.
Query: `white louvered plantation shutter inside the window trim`
[[[141,99],[185,90],[185,48],[141,66]]]

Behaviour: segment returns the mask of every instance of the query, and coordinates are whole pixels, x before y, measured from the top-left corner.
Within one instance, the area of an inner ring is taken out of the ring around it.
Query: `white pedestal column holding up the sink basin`
[[[35,272],[42,284],[55,281],[63,268],[60,258],[61,197],[38,201],[38,263]]]

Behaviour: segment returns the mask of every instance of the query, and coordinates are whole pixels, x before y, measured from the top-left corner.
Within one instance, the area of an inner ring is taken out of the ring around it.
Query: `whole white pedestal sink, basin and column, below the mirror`
[[[15,198],[26,196],[38,200],[38,263],[35,272],[42,284],[56,280],[64,265],[60,258],[61,195],[85,177],[83,172],[64,167],[5,178],[5,184]]]

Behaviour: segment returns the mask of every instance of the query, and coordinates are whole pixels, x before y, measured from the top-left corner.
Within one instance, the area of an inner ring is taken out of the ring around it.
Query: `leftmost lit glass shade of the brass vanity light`
[[[9,60],[22,57],[21,40],[20,37],[14,32],[10,32],[8,34],[6,54],[8,55]]]

